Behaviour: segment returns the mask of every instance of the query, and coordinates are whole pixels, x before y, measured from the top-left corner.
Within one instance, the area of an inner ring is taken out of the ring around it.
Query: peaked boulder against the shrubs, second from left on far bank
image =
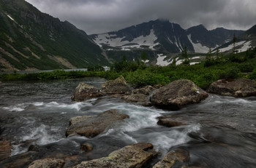
[[[102,84],[102,91],[106,94],[123,94],[129,92],[129,86],[123,76],[118,77],[115,80],[106,81]]]

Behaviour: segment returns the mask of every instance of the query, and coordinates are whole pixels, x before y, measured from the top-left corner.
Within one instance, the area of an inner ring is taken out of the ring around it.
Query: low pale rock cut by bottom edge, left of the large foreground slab
[[[64,167],[65,161],[62,159],[39,159],[36,161],[33,161],[31,164],[29,164],[29,168],[38,168],[38,167],[43,167],[43,168],[62,168]]]

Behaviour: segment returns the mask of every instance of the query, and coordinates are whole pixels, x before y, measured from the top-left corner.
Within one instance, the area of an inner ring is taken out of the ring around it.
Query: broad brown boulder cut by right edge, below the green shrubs
[[[256,81],[250,79],[220,79],[214,81],[208,87],[207,92],[233,97],[256,96]]]

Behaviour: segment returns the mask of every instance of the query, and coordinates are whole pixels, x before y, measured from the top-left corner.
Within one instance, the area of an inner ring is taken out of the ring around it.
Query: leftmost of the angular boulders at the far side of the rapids
[[[94,97],[101,97],[105,94],[101,89],[97,89],[89,84],[81,82],[78,87],[75,88],[75,93],[72,95],[72,101],[89,100]]]

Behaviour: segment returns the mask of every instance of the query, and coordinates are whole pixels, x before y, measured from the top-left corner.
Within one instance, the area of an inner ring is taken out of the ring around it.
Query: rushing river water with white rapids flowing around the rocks
[[[34,145],[40,149],[37,158],[61,153],[85,161],[108,156],[125,145],[148,142],[159,151],[158,159],[174,148],[184,148],[190,153],[189,164],[194,166],[256,167],[256,97],[209,95],[202,103],[180,111],[143,107],[113,97],[72,102],[71,95],[80,81],[100,87],[105,79],[0,84],[0,137],[12,143],[12,157]],[[72,116],[95,115],[110,109],[127,113],[129,119],[91,139],[65,137]],[[189,124],[159,126],[157,117],[163,115]],[[80,151],[81,143],[90,143],[93,150]]]

